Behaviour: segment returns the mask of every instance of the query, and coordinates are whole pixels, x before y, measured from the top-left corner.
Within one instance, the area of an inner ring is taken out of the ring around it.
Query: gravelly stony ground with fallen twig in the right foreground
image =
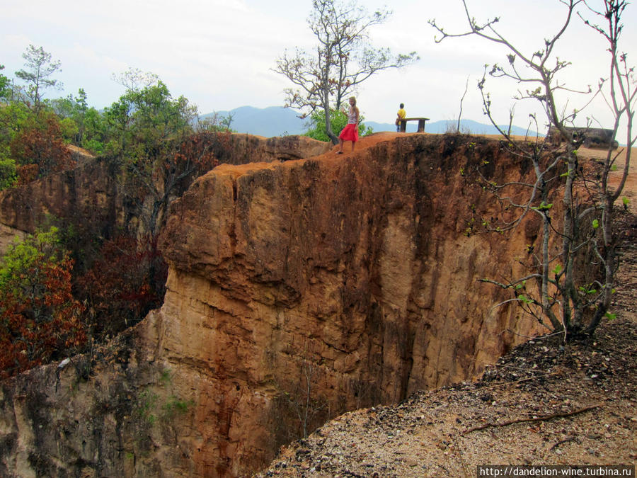
[[[475,477],[488,464],[635,465],[637,218],[626,212],[620,222],[617,318],[594,338],[536,338],[476,382],[340,416],[282,448],[256,476]]]

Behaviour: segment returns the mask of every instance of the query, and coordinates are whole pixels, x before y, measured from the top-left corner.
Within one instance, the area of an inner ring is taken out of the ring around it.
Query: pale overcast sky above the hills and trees
[[[591,0],[592,2],[601,0]],[[464,30],[466,18],[460,0],[387,2],[393,16],[372,28],[372,42],[394,53],[415,50],[420,61],[401,70],[372,77],[357,93],[367,120],[392,122],[398,103],[406,103],[408,116],[432,120],[462,118],[487,123],[476,88],[483,65],[506,62],[502,47],[474,37],[434,42],[435,18],[449,33]],[[362,0],[369,11],[383,2]],[[543,39],[561,26],[566,8],[558,0],[467,0],[479,20],[500,16],[502,33],[524,52],[534,52]],[[48,98],[76,94],[84,88],[96,108],[110,106],[123,93],[111,76],[132,68],[159,75],[173,97],[195,103],[201,113],[239,106],[282,106],[283,89],[291,86],[272,72],[278,56],[294,47],[311,49],[314,38],[306,18],[311,0],[28,0],[5,2],[0,17],[0,64],[14,77],[24,67],[29,44],[44,47],[59,59],[56,78],[63,91],[47,91]],[[583,9],[582,9],[583,10]],[[623,50],[637,64],[637,5],[624,16]],[[573,62],[564,80],[575,89],[595,85],[607,76],[607,45],[601,35],[573,20],[561,43],[559,56]],[[506,80],[488,81],[493,104],[507,122],[511,97],[518,85]],[[581,108],[583,98],[570,98],[566,108]],[[527,125],[533,103],[516,106],[515,124]],[[600,101],[590,110],[602,123],[611,116]],[[582,123],[585,120],[582,118]],[[604,126],[611,126],[604,124]]]

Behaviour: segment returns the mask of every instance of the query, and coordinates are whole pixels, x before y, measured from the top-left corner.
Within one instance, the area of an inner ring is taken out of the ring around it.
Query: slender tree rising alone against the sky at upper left
[[[26,60],[26,69],[16,72],[16,76],[26,82],[25,94],[33,102],[35,112],[42,108],[42,95],[47,88],[62,88],[62,83],[51,76],[59,70],[59,60],[52,61],[52,55],[45,52],[42,47],[29,45],[22,54]]]

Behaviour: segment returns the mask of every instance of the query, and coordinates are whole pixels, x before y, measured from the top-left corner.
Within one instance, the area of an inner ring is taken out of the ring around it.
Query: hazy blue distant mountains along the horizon
[[[254,108],[253,106],[241,106],[230,111],[217,111],[217,115],[232,115],[232,123],[230,127],[236,132],[250,133],[251,135],[272,137],[285,135],[301,135],[304,130],[306,120],[302,120],[297,116],[297,111],[282,106],[270,106],[268,108]],[[204,118],[214,113],[202,115]],[[365,121],[365,124],[371,126],[374,132],[396,131],[394,123],[377,123],[375,121]],[[456,120],[438,120],[433,123],[427,122],[425,132],[444,133],[450,127],[456,127]],[[506,130],[506,127],[502,127]],[[415,121],[407,123],[407,132],[415,132],[417,124]],[[497,135],[498,130],[493,125],[478,123],[474,120],[461,120],[460,131],[474,135]],[[524,135],[527,130],[514,126],[512,134]],[[529,132],[534,135],[534,132]]]

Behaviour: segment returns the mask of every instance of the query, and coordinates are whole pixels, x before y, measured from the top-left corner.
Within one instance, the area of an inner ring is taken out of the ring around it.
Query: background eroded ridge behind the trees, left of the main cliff
[[[190,154],[210,151],[224,164],[244,164],[251,161],[300,159],[326,152],[328,144],[303,136],[263,138],[251,135],[202,133],[195,137],[196,147]],[[179,154],[176,147],[174,154]],[[153,195],[148,190],[130,184],[122,176],[122,164],[115,158],[90,159],[74,156],[78,166],[69,171],[51,174],[40,181],[19,188],[0,191],[0,254],[16,236],[33,233],[51,217],[75,224],[91,224],[105,237],[115,229],[128,234],[148,232],[153,208]],[[156,196],[165,192],[168,179],[164,161],[158,159],[153,174]],[[190,186],[194,175],[188,175],[173,187],[166,205],[178,198]],[[166,205],[162,205],[165,207]],[[152,220],[161,229],[166,217]]]

